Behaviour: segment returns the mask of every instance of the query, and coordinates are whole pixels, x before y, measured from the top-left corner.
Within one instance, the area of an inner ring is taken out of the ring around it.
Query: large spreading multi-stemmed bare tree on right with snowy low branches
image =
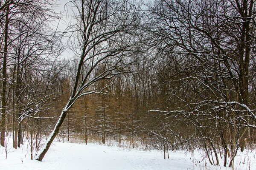
[[[154,48],[157,62],[169,63],[162,66],[158,79],[169,104],[157,111],[196,127],[198,141],[215,155],[212,164],[218,164],[217,139],[223,140],[226,155],[230,140],[231,166],[239,147],[243,150],[244,136],[250,135],[245,127],[255,128],[250,100],[255,79],[255,3],[156,0],[148,4],[147,16],[148,45]],[[229,139],[224,137],[229,132],[223,130],[223,122],[230,130]]]

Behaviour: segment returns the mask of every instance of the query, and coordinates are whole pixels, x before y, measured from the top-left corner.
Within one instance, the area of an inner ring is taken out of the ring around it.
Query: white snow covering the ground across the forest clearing
[[[0,170],[230,170],[209,166],[199,152],[170,152],[170,159],[163,159],[157,150],[55,142],[40,162],[31,160],[27,150],[25,145],[18,150],[10,148],[5,159],[5,148],[0,147]],[[235,169],[256,170],[255,151],[239,153]]]

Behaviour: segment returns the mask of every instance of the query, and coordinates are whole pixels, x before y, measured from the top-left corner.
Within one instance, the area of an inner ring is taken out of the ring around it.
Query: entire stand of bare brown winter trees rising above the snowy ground
[[[202,149],[230,167],[238,150],[255,148],[254,0],[64,5],[0,0],[2,146],[7,135],[15,148],[35,139],[41,161],[56,136],[140,140]],[[59,31],[64,15],[72,22]]]

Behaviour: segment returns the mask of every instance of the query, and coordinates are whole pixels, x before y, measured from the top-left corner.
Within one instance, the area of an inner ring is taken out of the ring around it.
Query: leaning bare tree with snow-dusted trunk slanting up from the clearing
[[[102,89],[92,88],[95,82],[122,72],[128,65],[126,51],[134,44],[128,33],[136,21],[133,4],[112,0],[76,0],[70,3],[78,12],[75,16],[77,24],[73,27],[76,29],[73,34],[77,34],[73,49],[79,60],[76,79],[70,99],[38,155],[38,161],[44,158],[74,102],[83,95],[101,93]],[[98,67],[101,67],[100,71],[96,71]]]

